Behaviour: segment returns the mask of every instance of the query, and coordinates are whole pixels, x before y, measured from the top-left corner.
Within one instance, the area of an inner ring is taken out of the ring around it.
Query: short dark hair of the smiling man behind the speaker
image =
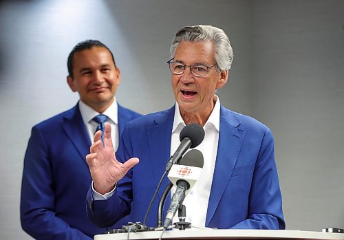
[[[71,78],[74,78],[73,76],[73,57],[76,52],[81,52],[83,50],[90,50],[92,47],[105,47],[111,54],[112,61],[114,61],[114,65],[116,67],[115,58],[112,54],[111,50],[109,50],[109,47],[107,47],[104,43],[101,43],[98,40],[92,40],[88,39],[85,41],[82,41],[73,47],[72,52],[69,53],[69,56],[67,58],[67,68],[68,68],[68,74]]]

